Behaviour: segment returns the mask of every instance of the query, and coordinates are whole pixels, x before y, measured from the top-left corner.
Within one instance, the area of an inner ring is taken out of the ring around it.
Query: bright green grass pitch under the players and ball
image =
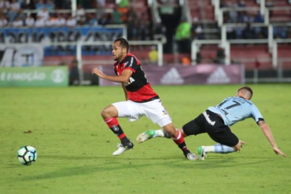
[[[153,88],[181,127],[240,86]],[[291,85],[250,86],[252,101],[286,158],[276,155],[254,120],[247,119],[232,126],[246,141],[240,153],[189,161],[172,140],[134,143],[139,133],[159,128],[145,117],[132,123],[119,119],[134,149],[114,157],[119,140],[100,112],[124,100],[121,87],[0,88],[0,193],[291,193]],[[200,145],[215,144],[207,134],[185,141],[194,153]],[[31,166],[17,160],[24,145],[37,149]]]

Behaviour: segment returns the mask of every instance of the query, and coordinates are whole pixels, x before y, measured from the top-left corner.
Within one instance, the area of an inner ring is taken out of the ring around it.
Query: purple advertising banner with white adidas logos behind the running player
[[[113,67],[100,67],[106,75],[115,75]],[[196,66],[172,65],[156,67],[142,66],[147,79],[152,85],[179,84],[241,84],[245,82],[243,65],[203,64]],[[100,85],[120,85],[99,79]]]

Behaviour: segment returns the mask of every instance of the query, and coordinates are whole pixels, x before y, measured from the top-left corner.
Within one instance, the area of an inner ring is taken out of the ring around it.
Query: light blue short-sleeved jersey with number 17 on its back
[[[251,101],[242,97],[227,97],[220,104],[209,107],[208,110],[220,114],[227,126],[232,126],[234,123],[250,117],[257,123],[264,120],[258,108]]]

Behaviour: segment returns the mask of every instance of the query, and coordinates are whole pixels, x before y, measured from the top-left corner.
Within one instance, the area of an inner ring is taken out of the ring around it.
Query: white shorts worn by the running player
[[[160,99],[143,103],[128,100],[115,102],[112,105],[118,110],[118,117],[127,117],[130,122],[146,116],[160,127],[172,123],[172,118],[163,107]]]

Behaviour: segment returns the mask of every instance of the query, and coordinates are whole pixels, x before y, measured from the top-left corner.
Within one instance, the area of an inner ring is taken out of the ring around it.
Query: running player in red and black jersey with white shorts
[[[92,70],[92,74],[96,74],[102,79],[121,83],[125,93],[126,101],[113,103],[101,112],[104,122],[121,141],[113,155],[119,155],[133,148],[132,142],[120,127],[117,117],[127,117],[131,122],[141,116],[146,116],[167,131],[187,159],[198,159],[195,154],[187,149],[183,136],[174,127],[172,119],[163,107],[159,96],[146,79],[140,62],[134,55],[128,53],[128,50],[129,44],[124,38],[118,38],[114,41],[112,54],[116,61],[114,64],[116,75],[104,75],[98,68]]]

